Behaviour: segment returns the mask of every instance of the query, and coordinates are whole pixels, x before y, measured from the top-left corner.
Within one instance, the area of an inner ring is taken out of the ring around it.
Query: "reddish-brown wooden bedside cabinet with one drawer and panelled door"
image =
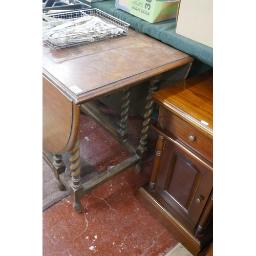
[[[151,181],[137,198],[193,254],[212,242],[213,71],[156,92]]]

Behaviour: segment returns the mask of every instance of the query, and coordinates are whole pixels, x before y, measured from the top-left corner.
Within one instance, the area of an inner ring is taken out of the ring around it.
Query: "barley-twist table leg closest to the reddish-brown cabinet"
[[[140,139],[140,145],[137,147],[137,155],[141,157],[140,163],[138,163],[135,167],[136,173],[140,174],[142,172],[142,163],[145,161],[145,158],[147,157],[147,138],[148,133],[150,131],[151,127],[151,121],[152,121],[152,114],[154,111],[154,100],[152,99],[152,94],[157,91],[157,85],[156,83],[159,82],[162,74],[156,75],[154,79],[151,80],[150,86],[148,87],[148,96],[146,98],[147,104],[145,106],[145,114],[144,114],[144,122],[142,123],[142,131],[141,131],[141,139]]]

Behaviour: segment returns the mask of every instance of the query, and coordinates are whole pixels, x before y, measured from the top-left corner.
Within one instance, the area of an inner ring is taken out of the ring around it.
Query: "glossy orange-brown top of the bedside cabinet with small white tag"
[[[160,90],[152,97],[183,120],[213,136],[213,69]]]

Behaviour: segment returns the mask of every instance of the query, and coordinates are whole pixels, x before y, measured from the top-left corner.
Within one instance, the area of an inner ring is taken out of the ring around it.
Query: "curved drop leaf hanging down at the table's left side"
[[[78,134],[80,108],[42,77],[42,148],[62,154],[71,150]]]

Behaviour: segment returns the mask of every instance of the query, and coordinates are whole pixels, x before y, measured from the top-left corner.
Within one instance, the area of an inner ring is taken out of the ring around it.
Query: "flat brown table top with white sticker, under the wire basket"
[[[185,65],[193,58],[129,28],[127,35],[53,50],[42,46],[42,73],[81,104]]]

